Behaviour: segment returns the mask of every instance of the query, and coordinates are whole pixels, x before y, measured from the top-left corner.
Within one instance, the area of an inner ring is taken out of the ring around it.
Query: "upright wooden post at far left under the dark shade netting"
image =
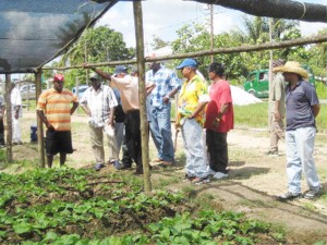
[[[11,75],[5,74],[5,118],[7,118],[7,161],[12,162],[12,107],[11,107]]]

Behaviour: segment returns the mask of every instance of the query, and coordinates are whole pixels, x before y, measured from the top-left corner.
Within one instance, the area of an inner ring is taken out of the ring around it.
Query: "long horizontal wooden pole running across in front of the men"
[[[137,36],[140,38],[140,36]],[[234,53],[234,52],[254,52],[254,51],[262,51],[262,50],[274,50],[274,49],[282,49],[295,46],[303,46],[310,44],[320,44],[327,41],[327,35],[319,35],[313,37],[304,37],[304,38],[296,38],[293,40],[286,40],[280,42],[268,42],[262,45],[243,45],[238,47],[231,48],[216,48],[213,50],[204,50],[197,52],[189,52],[189,53],[177,53],[170,56],[161,56],[161,57],[147,57],[144,58],[145,62],[148,61],[162,61],[162,60],[174,60],[174,59],[185,59],[185,58],[196,58],[196,57],[205,57],[211,54],[220,54],[220,53]],[[89,64],[92,66],[113,66],[119,64],[135,64],[137,60],[125,60],[125,61],[109,61],[109,62],[100,62],[100,63],[93,63]],[[84,64],[76,64],[71,66],[64,68],[43,68],[43,70],[70,70],[70,69],[83,69]]]

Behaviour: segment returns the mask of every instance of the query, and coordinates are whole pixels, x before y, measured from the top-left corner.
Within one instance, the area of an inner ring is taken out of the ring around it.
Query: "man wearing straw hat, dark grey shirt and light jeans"
[[[320,191],[313,158],[316,136],[315,118],[319,113],[319,100],[315,87],[305,81],[307,73],[299,62],[288,61],[284,65],[275,68],[274,72],[282,72],[284,79],[289,82],[286,87],[288,193],[280,195],[279,199],[292,200],[302,197],[302,169],[308,186],[303,197],[314,199]]]

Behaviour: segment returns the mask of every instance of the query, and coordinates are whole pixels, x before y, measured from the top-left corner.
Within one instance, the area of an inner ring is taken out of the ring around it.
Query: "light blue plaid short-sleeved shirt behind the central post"
[[[162,108],[164,97],[174,88],[181,87],[181,81],[175,73],[169,69],[161,66],[156,73],[153,70],[147,71],[145,75],[146,83],[154,83],[156,87],[149,96],[154,107]]]

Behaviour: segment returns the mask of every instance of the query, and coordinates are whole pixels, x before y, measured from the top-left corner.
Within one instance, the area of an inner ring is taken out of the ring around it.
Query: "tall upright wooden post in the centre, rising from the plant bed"
[[[133,1],[135,37],[136,37],[136,58],[138,71],[138,101],[142,138],[142,162],[144,189],[146,193],[152,191],[149,163],[148,163],[148,124],[146,119],[146,93],[145,93],[145,59],[144,59],[144,36],[143,36],[143,16],[141,1]]]

